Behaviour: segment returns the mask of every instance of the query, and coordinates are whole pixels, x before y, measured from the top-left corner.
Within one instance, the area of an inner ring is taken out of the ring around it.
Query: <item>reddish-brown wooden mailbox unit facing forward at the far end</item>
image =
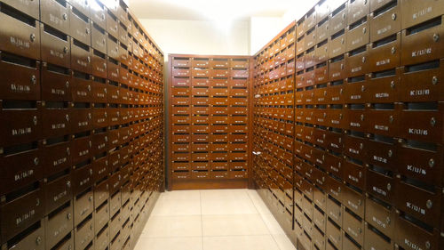
[[[247,58],[171,61],[172,179],[247,178]]]

